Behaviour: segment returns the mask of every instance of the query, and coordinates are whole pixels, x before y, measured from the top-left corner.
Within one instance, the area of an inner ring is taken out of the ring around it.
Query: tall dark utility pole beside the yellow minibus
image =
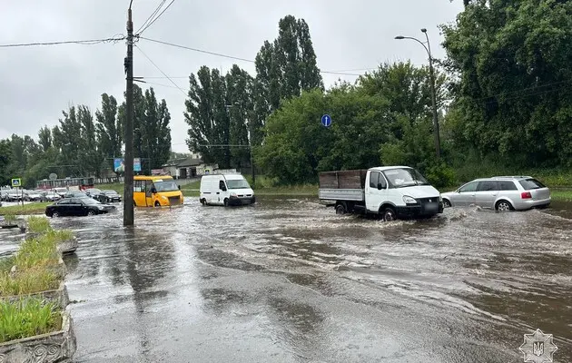
[[[133,226],[133,21],[131,5],[127,10],[127,56],[125,57],[125,73],[127,74],[125,90],[125,173],[123,181],[123,226]]]

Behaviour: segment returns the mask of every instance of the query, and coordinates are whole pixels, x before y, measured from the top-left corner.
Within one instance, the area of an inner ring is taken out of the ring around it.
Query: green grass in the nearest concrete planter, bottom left
[[[62,314],[42,299],[0,300],[0,343],[62,329]]]

